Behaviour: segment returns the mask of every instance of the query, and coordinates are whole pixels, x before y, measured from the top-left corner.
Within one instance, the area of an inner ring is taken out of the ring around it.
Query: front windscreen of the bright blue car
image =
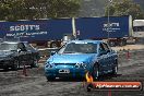
[[[62,47],[58,53],[96,53],[97,45],[93,43],[75,44],[71,43]]]

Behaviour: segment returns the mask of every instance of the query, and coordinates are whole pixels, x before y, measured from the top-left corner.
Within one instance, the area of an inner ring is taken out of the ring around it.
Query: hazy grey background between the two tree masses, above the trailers
[[[104,16],[105,4],[107,0],[81,0],[81,8],[79,16],[92,17],[92,16]]]

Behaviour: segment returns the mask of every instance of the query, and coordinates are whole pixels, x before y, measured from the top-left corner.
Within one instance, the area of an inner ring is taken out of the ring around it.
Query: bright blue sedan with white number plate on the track
[[[118,55],[103,40],[72,40],[50,56],[45,64],[47,80],[56,77],[93,79],[118,71]]]

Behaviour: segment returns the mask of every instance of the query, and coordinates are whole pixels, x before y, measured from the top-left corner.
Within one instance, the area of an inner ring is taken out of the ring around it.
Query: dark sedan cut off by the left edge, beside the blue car
[[[26,41],[0,43],[0,69],[17,70],[20,65],[37,67],[39,52]]]

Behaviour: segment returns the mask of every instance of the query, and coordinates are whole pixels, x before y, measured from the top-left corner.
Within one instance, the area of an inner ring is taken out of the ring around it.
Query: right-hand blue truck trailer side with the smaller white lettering
[[[75,20],[80,39],[88,38],[121,38],[130,35],[129,16],[79,17]],[[108,35],[109,34],[109,35]]]

